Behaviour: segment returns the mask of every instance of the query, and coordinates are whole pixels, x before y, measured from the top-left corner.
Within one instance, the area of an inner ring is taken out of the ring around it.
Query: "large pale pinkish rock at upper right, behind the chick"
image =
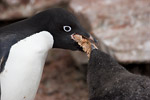
[[[150,62],[149,5],[149,0],[72,0],[70,8],[90,23],[103,51],[133,63]]]

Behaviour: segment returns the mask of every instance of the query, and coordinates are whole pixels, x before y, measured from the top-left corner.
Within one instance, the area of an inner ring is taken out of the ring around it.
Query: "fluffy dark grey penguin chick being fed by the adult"
[[[89,100],[150,100],[150,79],[135,75],[100,50],[88,66]]]

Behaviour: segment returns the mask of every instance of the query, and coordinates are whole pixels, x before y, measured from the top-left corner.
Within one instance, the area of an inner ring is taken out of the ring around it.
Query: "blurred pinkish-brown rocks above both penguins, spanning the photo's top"
[[[52,7],[72,11],[119,62],[149,63],[149,0],[0,0],[0,20],[27,18]]]

